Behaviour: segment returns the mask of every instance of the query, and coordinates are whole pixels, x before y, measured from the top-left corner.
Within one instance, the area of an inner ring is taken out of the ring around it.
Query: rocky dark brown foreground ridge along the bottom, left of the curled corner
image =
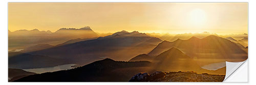
[[[207,73],[197,74],[195,72],[161,72],[139,73],[134,75],[129,82],[222,82],[225,75],[211,75]]]

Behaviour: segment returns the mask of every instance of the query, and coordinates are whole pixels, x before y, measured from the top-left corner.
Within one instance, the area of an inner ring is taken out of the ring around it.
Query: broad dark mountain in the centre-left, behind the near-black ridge
[[[78,39],[79,40],[79,39]],[[51,58],[66,59],[78,65],[86,65],[102,58],[128,61],[133,56],[150,52],[161,40],[139,32],[121,31],[93,40],[59,45],[29,52],[47,55]]]

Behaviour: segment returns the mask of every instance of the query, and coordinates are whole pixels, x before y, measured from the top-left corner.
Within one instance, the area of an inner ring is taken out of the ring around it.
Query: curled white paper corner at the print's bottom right
[[[232,75],[237,72],[237,70],[240,69],[242,65],[246,64],[246,67],[248,68],[248,59],[243,62],[226,62],[226,76],[223,82],[248,82],[248,69],[241,68],[242,70],[247,70],[245,72],[247,73],[239,73],[246,79],[243,79],[242,81],[233,81],[234,78]],[[247,76],[247,77],[246,77]],[[240,77],[240,78],[243,78]]]

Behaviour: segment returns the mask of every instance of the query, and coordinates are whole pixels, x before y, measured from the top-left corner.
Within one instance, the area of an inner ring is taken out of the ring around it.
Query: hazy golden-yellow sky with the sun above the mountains
[[[9,30],[247,33],[247,3],[9,3]]]

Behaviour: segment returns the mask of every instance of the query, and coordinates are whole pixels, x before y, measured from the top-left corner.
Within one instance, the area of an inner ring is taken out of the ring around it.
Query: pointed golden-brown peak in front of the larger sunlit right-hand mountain
[[[219,69],[216,71],[210,71],[201,68],[197,61],[181,50],[173,47],[170,48],[157,56],[150,56],[147,54],[140,54],[130,61],[150,61],[152,62],[153,68],[157,71],[194,71],[197,73],[210,73],[210,74],[224,74],[226,69]]]

